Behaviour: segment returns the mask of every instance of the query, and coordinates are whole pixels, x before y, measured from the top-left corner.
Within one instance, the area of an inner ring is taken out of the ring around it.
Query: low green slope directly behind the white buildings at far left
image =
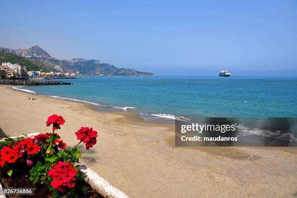
[[[12,64],[19,63],[19,58],[21,56],[18,56],[13,53],[9,52],[4,52],[0,51],[0,64],[4,62],[10,62]],[[52,71],[53,69],[47,68],[45,65],[42,63],[39,63],[34,60],[27,59],[25,57],[22,58],[22,65],[27,67],[27,71],[44,71],[44,72],[49,72]]]

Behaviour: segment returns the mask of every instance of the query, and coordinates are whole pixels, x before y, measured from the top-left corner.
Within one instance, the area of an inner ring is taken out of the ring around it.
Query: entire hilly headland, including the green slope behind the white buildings
[[[150,72],[141,72],[130,68],[118,68],[99,60],[74,58],[62,60],[51,57],[39,46],[29,49],[8,49],[0,47],[0,63],[16,64],[22,57],[23,64],[28,70],[43,72],[73,73],[75,75],[106,75],[106,76],[155,76]],[[24,63],[25,62],[25,63]]]

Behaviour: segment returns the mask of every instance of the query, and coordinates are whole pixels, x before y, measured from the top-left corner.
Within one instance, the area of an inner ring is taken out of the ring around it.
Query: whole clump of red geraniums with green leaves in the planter
[[[21,140],[7,138],[7,142],[4,142],[0,148],[0,167],[4,167],[1,171],[4,170],[12,177],[15,170],[19,172],[18,170],[21,170],[24,165],[28,165],[32,167],[30,180],[33,183],[37,181],[45,183],[47,189],[54,193],[54,197],[55,195],[81,197],[81,195],[74,196],[74,194],[78,194],[77,190],[84,190],[81,186],[84,177],[81,172],[77,172],[77,168],[70,164],[70,162],[78,162],[81,152],[76,148],[77,146],[61,151],[66,148],[66,143],[55,133],[55,130],[60,129],[60,125],[64,123],[65,120],[61,115],[54,114],[47,120],[47,126],[52,125],[51,133],[38,134],[33,138]],[[81,127],[75,134],[80,143],[85,144],[86,149],[97,143],[98,135],[92,128]],[[57,163],[52,165],[55,162]],[[50,169],[49,165],[51,165]]]

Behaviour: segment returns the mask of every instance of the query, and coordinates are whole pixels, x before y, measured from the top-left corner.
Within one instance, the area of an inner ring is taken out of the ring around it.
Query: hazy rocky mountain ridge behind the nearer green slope
[[[86,60],[75,58],[71,60],[61,60],[53,58],[48,52],[39,46],[33,46],[29,49],[8,49],[0,48],[0,51],[13,53],[26,57],[34,63],[40,64],[44,68],[52,71],[61,71],[68,73],[77,73],[83,75],[109,75],[109,76],[153,76],[149,72],[141,72],[130,68],[118,68],[111,64],[102,63],[99,60]],[[37,68],[37,67],[36,67]]]

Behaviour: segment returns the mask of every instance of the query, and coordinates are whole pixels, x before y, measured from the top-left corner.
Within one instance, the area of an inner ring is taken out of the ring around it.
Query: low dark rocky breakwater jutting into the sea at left
[[[0,85],[27,85],[27,86],[39,86],[39,85],[62,85],[72,84],[70,82],[61,81],[30,81],[30,80],[0,80]]]

